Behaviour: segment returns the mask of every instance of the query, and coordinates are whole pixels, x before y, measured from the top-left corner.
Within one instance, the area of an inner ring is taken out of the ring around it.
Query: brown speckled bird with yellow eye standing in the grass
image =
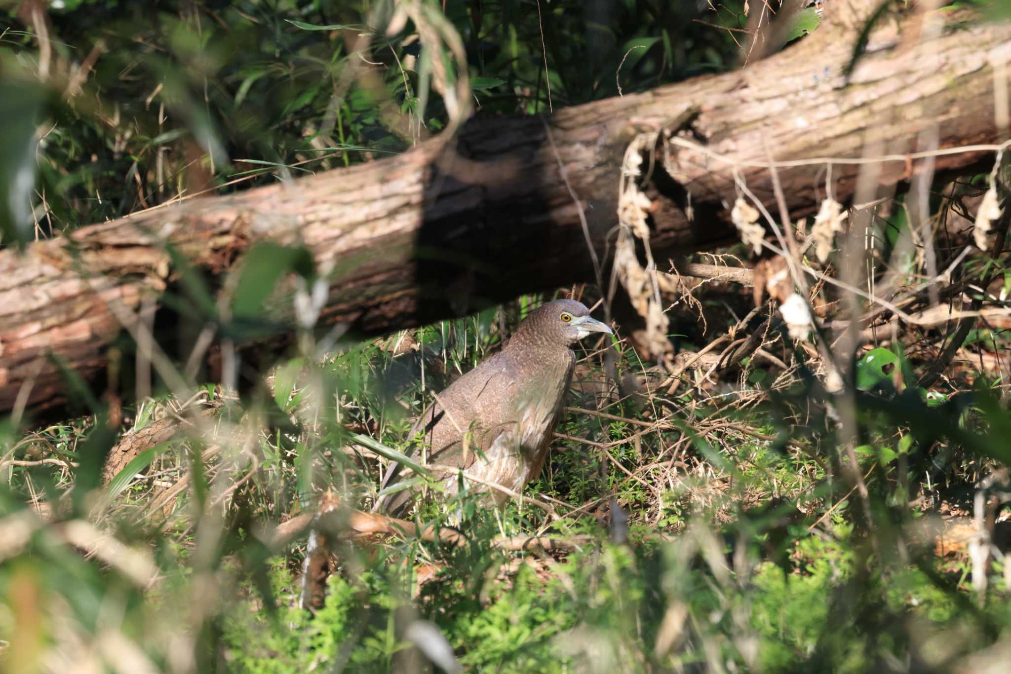
[[[612,329],[589,317],[589,309],[571,299],[558,299],[531,312],[505,347],[450,384],[411,427],[424,432],[427,464],[463,469],[475,478],[522,490],[541,472],[561,418],[565,393],[572,380],[572,345],[590,332]],[[444,409],[442,405],[445,405]],[[382,489],[403,478],[392,466]],[[456,471],[435,471],[447,495],[457,492]],[[509,496],[488,491],[495,503]],[[396,514],[413,502],[410,489],[376,500],[374,510]]]

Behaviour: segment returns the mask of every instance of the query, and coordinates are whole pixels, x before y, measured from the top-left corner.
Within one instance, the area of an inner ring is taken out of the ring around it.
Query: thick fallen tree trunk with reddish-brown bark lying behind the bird
[[[735,170],[771,205],[770,159],[859,158],[864,148],[905,156],[934,128],[942,149],[1002,140],[991,63],[1011,57],[1011,26],[964,18],[946,16],[949,27],[922,42],[910,25],[922,19],[890,23],[848,78],[857,27],[824,24],[742,71],[550,118],[475,119],[452,139],[390,159],[140,212],[23,254],[0,251],[0,409],[65,400],[58,362],[94,379],[142,298],[178,280],[167,245],[212,279],[258,242],[306,247],[330,281],[320,322],[379,333],[593,281],[587,246],[606,270],[622,158],[640,133],[657,138],[641,184],[660,260],[735,237]],[[685,138],[705,150],[675,145]],[[936,169],[988,154],[939,156]],[[826,166],[778,169],[793,217],[817,209]],[[883,187],[920,170],[919,161],[879,166]],[[832,164],[837,200],[852,195],[860,168]],[[290,317],[288,306],[265,312]]]

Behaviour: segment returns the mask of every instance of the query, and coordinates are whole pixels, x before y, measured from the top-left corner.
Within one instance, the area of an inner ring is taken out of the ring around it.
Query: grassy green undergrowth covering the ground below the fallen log
[[[31,602],[19,592],[60,619],[70,611],[83,634],[101,633],[118,611],[122,636],[166,670],[173,649],[153,636],[164,630],[188,644],[199,671],[412,671],[426,655],[408,628],[427,624],[467,671],[905,671],[917,660],[942,672],[1011,628],[1004,563],[986,569],[988,589],[978,593],[969,557],[938,558],[931,533],[944,524],[938,503],[971,512],[978,476],[1000,465],[1006,413],[986,388],[938,404],[882,378],[865,386],[854,399],[853,448],[864,500],[824,411],[833,399],[803,373],[777,388],[622,397],[582,386],[609,381],[604,343],[578,354],[583,381],[568,404],[588,411],[564,415],[564,438],[523,500],[494,510],[468,493],[429,498],[409,518],[456,526],[464,545],[410,532],[343,541],[324,605],[300,608],[305,537],[271,551],[264,532],[311,510],[328,489],[344,506],[368,508],[387,459],[355,439],[410,452],[425,391],[494,353],[543,299],[418,330],[417,348],[402,352],[392,347],[404,335],[394,335],[321,362],[282,362],[271,387],[222,399],[236,447],[206,462],[206,442],[158,448],[146,471],[127,470],[114,494],[105,491],[104,510],[101,492],[74,495],[95,484],[90,453],[114,438],[101,414],[20,436],[7,456],[60,461],[7,469],[5,525],[35,523],[3,553],[0,639],[68,648],[44,621],[24,632]],[[651,381],[651,364],[617,349],[619,378]],[[769,379],[745,368],[742,380]],[[143,426],[159,416],[155,406],[128,414]],[[243,430],[251,422],[252,441]],[[184,476],[195,484],[153,510],[152,499]],[[25,508],[64,494],[58,519],[97,516],[152,554],[160,580],[139,587],[114,561],[82,558],[59,525]],[[501,537],[586,535],[568,553],[495,548]]]

